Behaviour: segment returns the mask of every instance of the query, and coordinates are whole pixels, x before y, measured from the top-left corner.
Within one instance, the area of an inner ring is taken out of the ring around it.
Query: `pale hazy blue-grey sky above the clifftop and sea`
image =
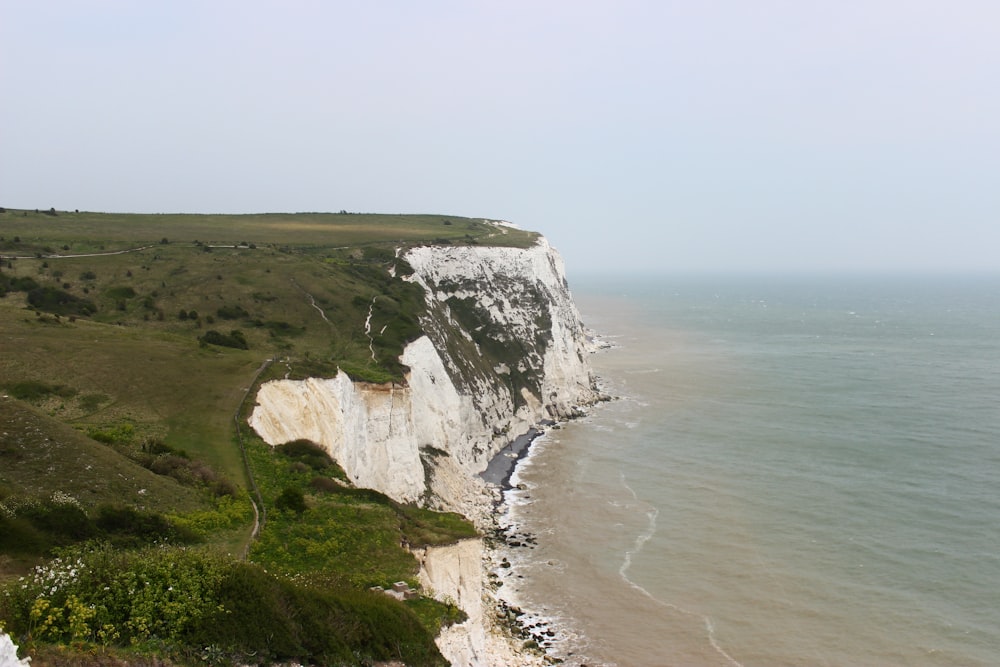
[[[0,205],[502,218],[569,273],[1000,269],[996,0],[0,0]]]

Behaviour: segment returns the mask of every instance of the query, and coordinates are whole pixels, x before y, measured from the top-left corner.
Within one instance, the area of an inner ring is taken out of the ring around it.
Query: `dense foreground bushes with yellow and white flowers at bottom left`
[[[190,549],[64,551],[7,587],[0,618],[36,645],[168,647],[184,664],[445,664],[388,596],[303,586]]]

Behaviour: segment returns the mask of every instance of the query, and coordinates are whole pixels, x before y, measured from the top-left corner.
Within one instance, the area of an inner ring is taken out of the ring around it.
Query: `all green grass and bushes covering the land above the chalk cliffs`
[[[440,664],[433,634],[460,614],[368,588],[416,583],[405,546],[471,525],[237,424],[268,377],[401,379],[424,301],[400,249],[535,236],[453,216],[54,213],[0,212],[0,623],[33,664]]]

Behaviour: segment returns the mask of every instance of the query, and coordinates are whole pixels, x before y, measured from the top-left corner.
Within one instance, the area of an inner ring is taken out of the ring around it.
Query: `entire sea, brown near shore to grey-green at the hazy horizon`
[[[578,281],[503,590],[587,665],[1000,665],[1000,276]]]

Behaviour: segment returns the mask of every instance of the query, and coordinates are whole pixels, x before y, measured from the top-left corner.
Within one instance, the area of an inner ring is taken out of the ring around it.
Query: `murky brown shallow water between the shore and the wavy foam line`
[[[498,552],[511,564],[498,570],[500,595],[527,612],[523,624],[554,631],[549,652],[566,664],[732,667],[701,614],[657,601],[624,578],[655,511],[624,485],[592,477],[594,462],[563,449],[575,428],[589,425],[583,420],[536,440],[515,473],[512,481],[523,488],[507,492],[501,523],[508,544],[519,546]]]

